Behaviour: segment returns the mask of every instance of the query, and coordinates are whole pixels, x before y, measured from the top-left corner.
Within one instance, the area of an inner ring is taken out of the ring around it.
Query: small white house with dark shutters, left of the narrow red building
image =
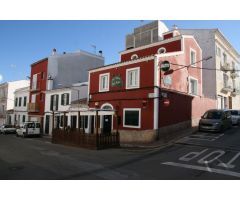
[[[29,103],[29,87],[17,89],[14,92],[14,100],[14,119],[12,119],[12,124],[20,125],[28,121],[27,104]]]

